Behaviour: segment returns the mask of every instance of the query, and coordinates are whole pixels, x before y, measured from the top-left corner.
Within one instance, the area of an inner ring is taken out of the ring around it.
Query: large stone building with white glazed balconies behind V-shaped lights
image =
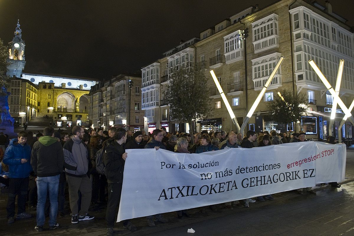
[[[244,40],[244,33],[247,31],[248,36],[246,35]],[[211,87],[213,116],[198,121],[199,131],[236,129],[212,80],[210,69],[215,71],[241,126],[278,59],[280,56],[285,57],[247,124],[247,130],[276,129],[283,132],[296,129],[299,131],[300,127],[295,122],[280,126],[268,116],[271,112],[267,108],[268,102],[273,100],[274,96],[278,96],[277,91],[287,89],[293,93],[306,94],[308,97],[308,104],[306,104],[308,111],[301,120],[308,137],[322,139],[330,135],[328,133],[329,111],[333,97],[309,67],[307,62],[309,59],[314,59],[333,86],[339,59],[345,59],[340,96],[347,107],[354,98],[353,31],[346,24],[346,19],[332,11],[329,2],[326,6],[321,6],[317,2],[281,0],[262,9],[258,6],[250,7],[217,23],[215,27],[202,31],[200,39],[187,48],[176,47],[164,53],[164,58],[148,66],[157,68],[160,65],[160,81],[157,82],[155,78],[156,84],[144,86],[143,73],[142,90],[154,89],[160,92],[159,97],[154,95],[156,127],[159,120],[159,117],[156,119],[156,111],[159,111],[158,116],[161,116],[164,108],[161,102],[165,94],[161,87],[164,83],[168,83],[168,76],[166,76],[168,74],[163,70],[168,72],[169,63],[173,61],[174,55],[182,51],[193,53],[193,62],[205,65],[206,76],[210,78],[206,89]],[[181,63],[182,61],[178,59],[175,60],[175,64],[172,62],[172,66]],[[142,71],[144,72],[148,67],[144,67]],[[168,110],[168,107],[166,108]],[[342,117],[342,111],[337,109],[333,130],[338,128]],[[172,126],[171,121],[169,125]],[[338,136],[337,133],[334,134]],[[351,124],[344,125],[343,135],[352,137]]]

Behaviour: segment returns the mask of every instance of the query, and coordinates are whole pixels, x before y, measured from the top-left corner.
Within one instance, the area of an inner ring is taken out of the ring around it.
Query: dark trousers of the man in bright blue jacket
[[[15,217],[15,199],[17,196],[17,214],[25,212],[29,178],[9,178],[7,218]]]

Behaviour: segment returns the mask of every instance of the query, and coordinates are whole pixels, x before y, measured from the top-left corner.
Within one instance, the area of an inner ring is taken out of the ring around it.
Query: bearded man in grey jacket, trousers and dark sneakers
[[[87,148],[81,139],[84,137],[84,128],[75,126],[72,129],[73,137],[63,146],[65,174],[69,186],[70,209],[72,212],[71,223],[77,224],[78,221],[92,220],[95,218],[88,214],[92,184],[87,177],[89,172],[89,159]],[[78,216],[78,191],[81,192],[81,208]]]

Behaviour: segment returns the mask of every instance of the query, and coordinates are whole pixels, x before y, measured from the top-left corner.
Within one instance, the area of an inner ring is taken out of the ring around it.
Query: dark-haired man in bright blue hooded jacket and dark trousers
[[[32,171],[30,165],[31,147],[26,144],[27,132],[21,131],[17,138],[11,139],[10,145],[4,154],[4,164],[8,165],[9,186],[7,200],[7,223],[15,222],[15,199],[17,197],[17,218],[30,218],[32,214],[25,212],[27,198],[29,173]]]

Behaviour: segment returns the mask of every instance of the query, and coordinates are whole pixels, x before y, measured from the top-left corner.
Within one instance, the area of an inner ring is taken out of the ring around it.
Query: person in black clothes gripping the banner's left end
[[[105,166],[104,174],[108,182],[108,202],[107,202],[107,236],[113,235],[113,226],[116,219],[115,209],[119,207],[120,196],[123,184],[124,163],[127,158],[124,146],[127,140],[127,132],[123,128],[117,129],[114,141],[108,144],[104,154],[103,163]],[[122,221],[124,228],[130,231],[137,230],[130,220]]]

